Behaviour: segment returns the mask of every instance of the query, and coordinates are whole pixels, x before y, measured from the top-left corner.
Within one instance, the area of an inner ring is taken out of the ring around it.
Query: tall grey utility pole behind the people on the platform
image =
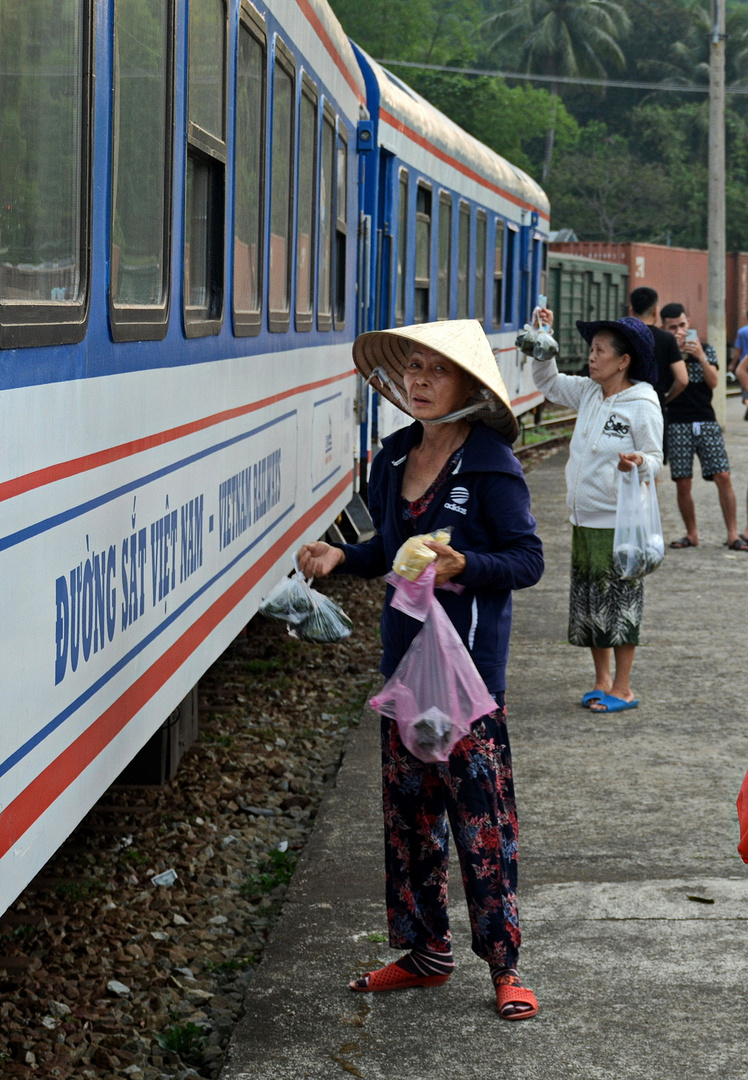
[[[725,423],[725,262],[724,242],[724,5],[711,0],[709,46],[709,313],[707,340],[717,352],[719,381],[713,396],[715,415]]]

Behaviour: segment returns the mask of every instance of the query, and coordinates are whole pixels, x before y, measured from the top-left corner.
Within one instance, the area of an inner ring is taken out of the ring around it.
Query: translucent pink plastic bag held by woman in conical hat
[[[395,583],[393,607],[425,621],[392,678],[369,702],[397,720],[403,744],[421,761],[446,761],[471,725],[497,707],[449,616],[434,599],[434,576],[430,566],[417,582],[403,578],[405,585]]]

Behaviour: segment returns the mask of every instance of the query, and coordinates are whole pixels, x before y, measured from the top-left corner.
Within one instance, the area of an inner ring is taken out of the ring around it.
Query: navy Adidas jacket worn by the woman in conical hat
[[[377,535],[366,543],[340,544],[345,563],[338,573],[377,578],[392,569],[397,550],[412,535],[403,519],[400,489],[406,457],[421,441],[417,421],[390,435],[371,464],[369,512]],[[462,461],[417,522],[417,532],[451,527],[450,544],[467,559],[452,580],[460,594],[436,590],[436,597],[470,649],[491,693],[505,689],[512,629],[512,590],[527,589],[543,575],[543,545],[535,536],[530,492],[507,440],[481,421],[473,426]],[[390,607],[387,585],[382,612],[380,670],[389,678],[421,629]]]

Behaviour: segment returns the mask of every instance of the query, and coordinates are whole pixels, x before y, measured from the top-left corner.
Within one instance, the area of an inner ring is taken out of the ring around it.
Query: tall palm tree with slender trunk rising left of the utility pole
[[[498,0],[487,21],[495,35],[489,49],[521,42],[520,67],[535,75],[604,78],[609,67],[623,68],[617,39],[630,27],[617,0]],[[558,98],[558,84],[550,83]],[[545,139],[542,179],[550,170],[556,137],[556,110]]]

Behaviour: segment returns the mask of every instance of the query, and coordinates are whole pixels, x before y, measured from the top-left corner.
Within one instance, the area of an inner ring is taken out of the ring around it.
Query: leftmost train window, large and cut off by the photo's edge
[[[85,336],[92,6],[0,4],[1,348]]]

